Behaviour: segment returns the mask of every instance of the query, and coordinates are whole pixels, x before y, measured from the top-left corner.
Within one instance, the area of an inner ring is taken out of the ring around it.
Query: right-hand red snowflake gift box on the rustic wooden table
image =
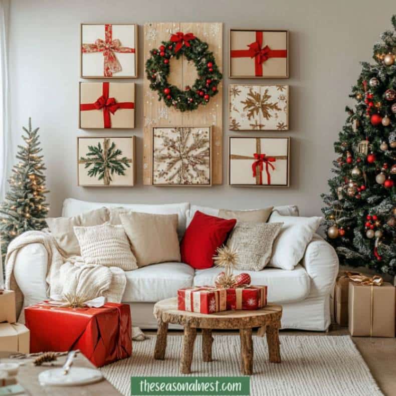
[[[267,286],[227,289],[227,309],[255,310],[267,305]]]

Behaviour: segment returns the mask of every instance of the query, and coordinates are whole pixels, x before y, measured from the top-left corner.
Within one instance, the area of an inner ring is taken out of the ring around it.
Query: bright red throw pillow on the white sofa
[[[181,261],[200,270],[212,267],[216,249],[236,223],[236,219],[226,220],[196,211],[180,244]]]

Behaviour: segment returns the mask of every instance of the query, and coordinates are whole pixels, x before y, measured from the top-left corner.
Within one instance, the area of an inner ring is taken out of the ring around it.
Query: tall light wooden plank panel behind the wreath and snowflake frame
[[[147,23],[144,25],[144,63],[150,50],[158,48],[162,41],[168,41],[170,35],[181,31],[193,33],[209,45],[216,57],[216,62],[223,69],[223,24],[221,23]],[[181,57],[171,59],[171,71],[168,81],[184,89],[192,86],[196,78],[195,67]],[[212,184],[223,183],[223,82],[218,86],[219,92],[211,98],[206,106],[200,106],[192,112],[180,112],[166,107],[158,101],[156,92],[149,88],[149,81],[144,75],[144,131],[143,131],[143,184],[152,184],[152,127],[153,126],[212,126]]]

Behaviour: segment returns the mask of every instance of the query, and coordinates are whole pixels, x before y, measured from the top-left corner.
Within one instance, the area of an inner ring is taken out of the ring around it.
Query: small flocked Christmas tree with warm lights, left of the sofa
[[[45,217],[48,212],[45,193],[46,169],[39,142],[39,128],[32,130],[29,119],[29,129],[23,128],[24,146],[18,146],[17,158],[20,162],[14,166],[9,178],[10,191],[0,205],[0,240],[4,262],[10,242],[18,235],[29,230],[41,230],[47,227]]]

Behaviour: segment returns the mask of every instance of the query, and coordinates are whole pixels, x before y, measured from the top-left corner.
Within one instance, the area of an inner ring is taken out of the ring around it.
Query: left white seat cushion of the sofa
[[[194,269],[184,263],[161,263],[127,271],[125,275],[123,302],[157,302],[177,296],[177,289],[192,286]]]

